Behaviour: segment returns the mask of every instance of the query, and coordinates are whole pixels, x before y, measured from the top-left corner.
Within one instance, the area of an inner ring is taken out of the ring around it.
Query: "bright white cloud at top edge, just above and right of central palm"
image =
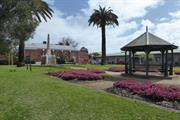
[[[121,19],[143,17],[147,8],[155,8],[164,4],[164,0],[89,0],[89,9],[98,8],[99,5],[111,7]]]

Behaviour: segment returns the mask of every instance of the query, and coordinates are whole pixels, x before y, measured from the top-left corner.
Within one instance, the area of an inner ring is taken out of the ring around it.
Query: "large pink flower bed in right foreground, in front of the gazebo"
[[[115,82],[113,87],[128,89],[134,94],[156,101],[180,101],[180,88],[165,86],[151,82],[141,83],[135,80],[122,80]]]

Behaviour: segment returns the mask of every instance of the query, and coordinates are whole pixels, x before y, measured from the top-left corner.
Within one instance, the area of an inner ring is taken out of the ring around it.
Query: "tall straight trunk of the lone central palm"
[[[106,64],[106,28],[105,25],[101,27],[102,32],[102,56],[101,56],[101,65]]]

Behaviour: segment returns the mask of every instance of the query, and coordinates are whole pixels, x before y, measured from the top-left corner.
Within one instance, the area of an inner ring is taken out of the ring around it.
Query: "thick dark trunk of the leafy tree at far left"
[[[20,40],[17,67],[22,67],[22,66],[24,66],[24,41]]]

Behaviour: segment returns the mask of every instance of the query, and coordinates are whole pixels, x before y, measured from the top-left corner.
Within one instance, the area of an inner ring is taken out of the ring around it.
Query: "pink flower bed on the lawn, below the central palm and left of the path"
[[[100,80],[103,79],[102,73],[104,71],[96,69],[87,70],[71,70],[64,72],[48,73],[51,76],[59,77],[64,80]]]

